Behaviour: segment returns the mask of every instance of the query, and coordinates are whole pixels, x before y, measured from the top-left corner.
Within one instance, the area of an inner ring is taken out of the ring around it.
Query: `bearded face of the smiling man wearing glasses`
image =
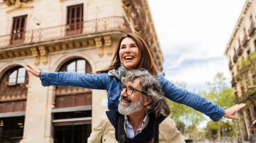
[[[118,106],[119,113],[123,115],[131,115],[144,108],[144,98],[142,96],[141,86],[139,85],[140,79],[134,79],[134,82],[124,83],[124,86],[120,95],[120,103]],[[132,91],[132,89],[137,89],[138,91]],[[127,92],[126,92],[127,90]],[[132,92],[132,95],[129,95]]]

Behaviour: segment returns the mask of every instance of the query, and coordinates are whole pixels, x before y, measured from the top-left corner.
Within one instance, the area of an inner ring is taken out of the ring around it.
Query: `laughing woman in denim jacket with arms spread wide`
[[[84,88],[107,90],[108,108],[114,110],[119,105],[119,93],[122,91],[121,79],[127,70],[147,69],[151,74],[157,76],[163,86],[164,96],[171,101],[182,103],[191,108],[208,115],[213,121],[218,121],[223,115],[226,118],[238,120],[234,114],[245,107],[245,104],[234,105],[224,110],[182,88],[178,88],[157,73],[156,65],[151,57],[149,48],[144,40],[134,33],[123,35],[117,41],[114,57],[107,69],[97,71],[96,74],[80,74],[74,72],[46,72],[36,69],[31,64],[26,64],[26,71],[41,79],[43,86],[80,86]]]

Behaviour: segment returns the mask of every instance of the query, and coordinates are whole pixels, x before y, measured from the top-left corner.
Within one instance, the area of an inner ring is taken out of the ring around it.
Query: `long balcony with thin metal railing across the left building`
[[[131,32],[129,24],[125,18],[120,16],[97,18],[78,24],[80,26],[76,26],[75,28],[74,25],[69,24],[35,30],[27,30],[23,32],[23,37],[19,38],[18,42],[16,40],[14,41],[14,33],[11,35],[0,35],[0,50],[4,47],[13,45],[24,45],[35,42],[60,40],[79,35],[109,32],[112,30]]]

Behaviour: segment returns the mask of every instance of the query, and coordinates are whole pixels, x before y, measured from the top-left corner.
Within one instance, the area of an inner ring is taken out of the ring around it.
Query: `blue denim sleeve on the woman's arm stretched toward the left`
[[[43,86],[78,86],[83,88],[106,89],[107,73],[81,74],[77,72],[41,72]]]

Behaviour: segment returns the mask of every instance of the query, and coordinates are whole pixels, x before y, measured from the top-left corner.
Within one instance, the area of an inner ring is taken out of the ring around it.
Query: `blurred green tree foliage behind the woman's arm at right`
[[[176,86],[181,88],[186,88],[186,83],[184,82],[174,82]],[[228,81],[222,73],[215,75],[213,82],[208,83],[210,91],[201,91],[198,94],[207,98],[208,101],[213,101],[223,108],[228,108],[235,104],[233,90],[230,87],[230,81]],[[225,129],[225,135],[227,137],[232,136],[232,130],[230,130],[231,124],[230,120],[220,120],[219,122],[209,121],[205,115],[199,113],[193,108],[189,108],[186,105],[179,103],[174,103],[173,101],[166,100],[169,103],[171,109],[171,118],[174,119],[178,130],[181,131],[183,135],[189,138],[196,139],[200,136],[208,137],[209,139],[215,139],[224,133],[221,129]],[[206,127],[201,130],[201,125],[206,122]],[[208,122],[208,123],[207,123]]]

